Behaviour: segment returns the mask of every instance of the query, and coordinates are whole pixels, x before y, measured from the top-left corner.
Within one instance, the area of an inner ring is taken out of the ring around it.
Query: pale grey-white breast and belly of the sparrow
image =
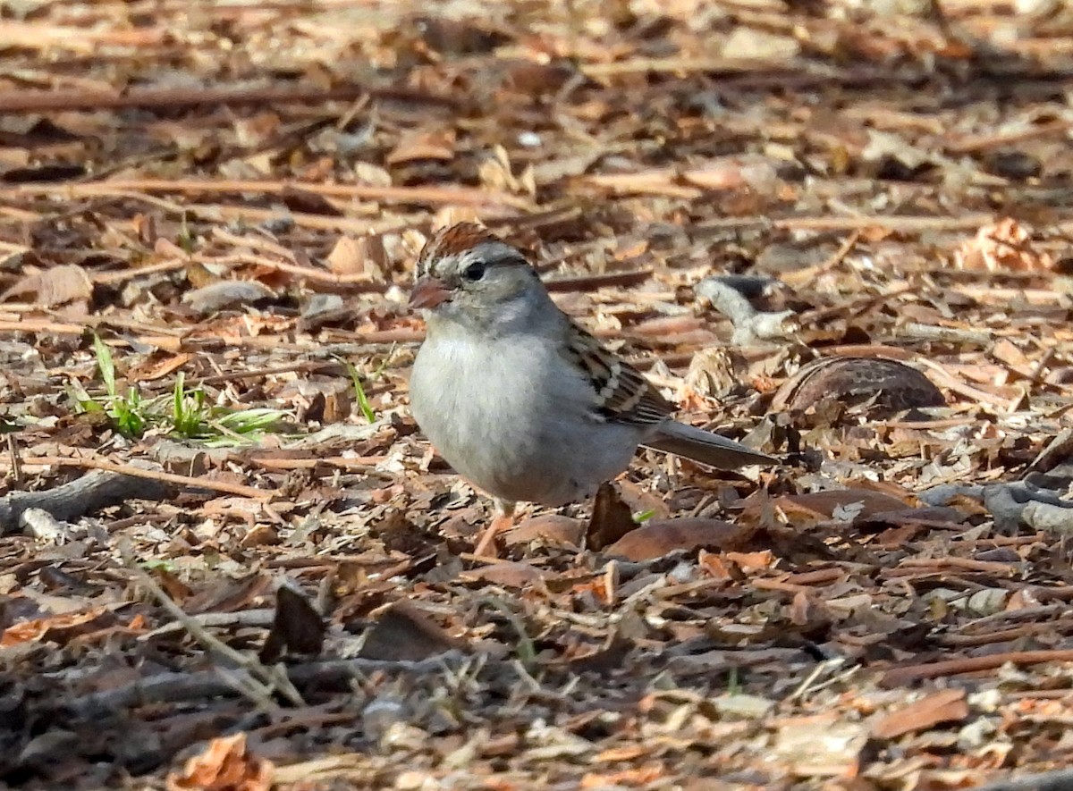
[[[586,414],[576,383],[548,375],[562,363],[546,354],[518,343],[473,349],[440,342],[423,346],[414,361],[418,426],[459,475],[502,499],[561,505],[587,497],[636,449],[632,431]],[[433,360],[453,372],[438,387]]]

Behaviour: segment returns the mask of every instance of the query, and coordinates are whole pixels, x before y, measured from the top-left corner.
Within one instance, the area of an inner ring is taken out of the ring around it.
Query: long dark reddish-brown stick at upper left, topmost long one
[[[79,35],[84,31],[79,28]],[[432,95],[398,88],[368,88],[344,85],[338,88],[312,86],[265,86],[261,88],[128,88],[123,91],[8,91],[0,93],[0,113],[52,113],[70,109],[123,109],[130,107],[194,107],[205,104],[268,104],[285,102],[352,101],[363,95],[424,102],[454,107],[446,95]]]

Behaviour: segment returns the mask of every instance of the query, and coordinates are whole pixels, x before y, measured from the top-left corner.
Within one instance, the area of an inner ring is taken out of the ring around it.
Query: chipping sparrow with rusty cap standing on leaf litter
[[[552,301],[525,256],[462,223],[438,232],[410,295],[427,334],[410,378],[417,424],[505,513],[517,501],[588,497],[638,445],[714,467],[777,464],[732,439],[679,423],[636,370]]]

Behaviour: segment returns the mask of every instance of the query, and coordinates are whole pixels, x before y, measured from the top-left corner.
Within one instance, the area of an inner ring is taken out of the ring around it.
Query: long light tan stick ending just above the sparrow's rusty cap
[[[302,190],[328,197],[358,198],[363,200],[394,200],[410,204],[459,204],[485,206],[501,204],[528,210],[532,204],[516,195],[490,192],[466,186],[370,186],[367,184],[325,184],[317,181],[278,181],[273,179],[109,179],[85,184],[17,184],[0,188],[0,196],[59,195],[61,197],[91,197],[121,192],[163,193],[240,193],[282,195],[291,190]]]

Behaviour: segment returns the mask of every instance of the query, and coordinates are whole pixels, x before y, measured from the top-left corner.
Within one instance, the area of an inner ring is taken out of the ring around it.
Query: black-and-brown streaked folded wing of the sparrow
[[[567,354],[592,382],[596,412],[605,420],[633,426],[658,423],[674,406],[636,369],[607,352],[588,332],[572,326]]]

